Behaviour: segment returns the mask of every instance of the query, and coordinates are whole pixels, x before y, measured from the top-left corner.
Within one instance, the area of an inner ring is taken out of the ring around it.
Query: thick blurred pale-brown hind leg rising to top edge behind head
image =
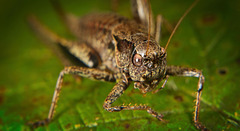
[[[151,16],[151,34],[155,33],[155,24],[152,15],[152,9],[148,0],[131,0],[132,14],[134,19],[148,27],[149,15]]]

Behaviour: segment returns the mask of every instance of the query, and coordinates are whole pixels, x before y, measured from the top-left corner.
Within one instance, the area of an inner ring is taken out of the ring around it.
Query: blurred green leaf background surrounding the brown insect
[[[111,11],[111,0],[67,1],[78,16]],[[153,13],[175,24],[192,0],[151,0]],[[115,5],[115,4],[113,4]],[[131,17],[128,0],[114,9]],[[187,15],[168,47],[168,64],[203,70],[206,77],[200,121],[212,130],[240,128],[240,1],[200,1]],[[36,15],[57,34],[71,38],[48,0],[0,1],[0,130],[30,130],[29,121],[47,117],[63,65],[30,31],[26,17]],[[161,45],[170,33],[163,26]],[[193,111],[197,78],[171,77],[157,94],[142,95],[132,85],[114,103],[143,103],[165,115],[160,122],[145,111],[109,113],[103,101],[114,83],[64,79],[54,120],[36,130],[196,130]]]

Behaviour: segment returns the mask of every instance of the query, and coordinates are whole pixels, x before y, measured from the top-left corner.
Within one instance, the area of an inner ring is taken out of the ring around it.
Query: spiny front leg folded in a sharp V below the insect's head
[[[106,109],[109,112],[118,112],[121,110],[146,110],[149,114],[156,117],[158,120],[163,121],[162,114],[157,113],[156,111],[152,110],[149,106],[146,105],[121,105],[121,106],[112,106],[112,103],[119,98],[124,91],[129,86],[129,83],[125,80],[119,81],[111,90],[111,92],[108,94],[107,98],[104,101],[103,108]]]

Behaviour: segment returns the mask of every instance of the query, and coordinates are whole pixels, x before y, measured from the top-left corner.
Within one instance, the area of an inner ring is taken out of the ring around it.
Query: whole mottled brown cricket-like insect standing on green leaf
[[[103,108],[105,110],[109,112],[145,110],[160,121],[163,121],[163,115],[149,106],[130,104],[112,106],[112,104],[124,93],[131,82],[134,82],[134,88],[139,89],[142,93],[150,91],[156,93],[164,88],[170,76],[189,76],[199,79],[194,123],[196,128],[205,129],[198,117],[204,83],[202,72],[193,68],[168,66],[166,62],[166,49],[174,32],[197,1],[181,17],[165,48],[159,45],[162,17],[158,15],[155,24],[147,0],[131,1],[133,20],[115,13],[95,13],[78,18],[66,14],[56,1],[53,3],[61,19],[72,34],[78,38],[78,41],[59,37],[43,26],[35,17],[29,19],[32,29],[38,36],[50,43],[50,46],[64,48],[77,61],[82,61],[86,67],[70,66],[77,64],[73,64],[61,55],[61,59],[67,66],[59,74],[48,117],[43,121],[33,123],[33,126],[45,125],[52,120],[62,88],[63,77],[66,74],[116,82],[104,101]],[[163,85],[156,89],[162,80],[165,80]]]

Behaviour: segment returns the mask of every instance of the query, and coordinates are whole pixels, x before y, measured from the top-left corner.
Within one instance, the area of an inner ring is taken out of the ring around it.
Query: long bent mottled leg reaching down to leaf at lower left
[[[74,75],[79,75],[86,78],[101,80],[101,81],[111,81],[111,82],[116,81],[114,74],[108,71],[98,70],[95,68],[77,67],[77,66],[65,67],[59,74],[56,88],[52,98],[51,107],[48,113],[48,118],[43,121],[33,123],[32,124],[33,127],[46,125],[52,120],[54,111],[58,102],[58,97],[62,88],[63,77],[66,74],[74,74]]]

